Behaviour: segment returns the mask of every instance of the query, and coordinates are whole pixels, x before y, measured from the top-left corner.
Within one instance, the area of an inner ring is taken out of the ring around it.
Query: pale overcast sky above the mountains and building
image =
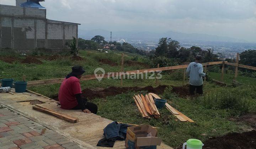
[[[0,0],[15,5],[15,0]],[[47,18],[79,29],[206,33],[256,43],[256,0],[46,0]]]

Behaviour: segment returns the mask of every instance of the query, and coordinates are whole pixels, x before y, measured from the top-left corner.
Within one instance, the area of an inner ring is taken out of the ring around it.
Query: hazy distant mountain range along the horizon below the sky
[[[92,38],[95,35],[102,35],[106,39],[110,39],[110,31],[103,29],[95,29],[90,31],[79,30],[79,37],[81,38]],[[218,41],[218,42],[246,42],[245,40],[235,39],[231,37],[223,37],[209,34],[198,34],[198,33],[180,33],[174,31],[168,31],[164,33],[155,32],[128,32],[128,31],[117,31],[112,32],[112,40],[128,39],[128,40],[158,40],[162,37],[172,38],[174,40],[193,40],[193,41]]]

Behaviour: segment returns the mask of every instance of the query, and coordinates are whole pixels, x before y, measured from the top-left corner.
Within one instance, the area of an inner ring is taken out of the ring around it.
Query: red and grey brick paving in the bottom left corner
[[[0,106],[1,149],[79,149],[79,144]]]

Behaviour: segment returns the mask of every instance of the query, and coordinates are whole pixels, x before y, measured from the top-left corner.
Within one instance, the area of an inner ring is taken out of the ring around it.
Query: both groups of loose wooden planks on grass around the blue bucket
[[[138,106],[138,109],[142,116],[144,118],[151,118],[151,116],[155,118],[160,117],[160,113],[155,105],[154,99],[161,99],[157,94],[155,93],[149,93],[144,95],[134,95],[133,99],[135,100],[136,105]],[[194,122],[184,114],[182,114],[180,111],[176,110],[174,107],[169,105],[168,103],[165,104],[166,109],[169,110],[174,116],[176,116],[180,121],[182,122]]]

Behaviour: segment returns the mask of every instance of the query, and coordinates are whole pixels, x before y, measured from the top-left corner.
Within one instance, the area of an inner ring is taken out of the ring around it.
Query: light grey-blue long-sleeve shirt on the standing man
[[[190,85],[200,86],[203,85],[203,78],[206,76],[203,73],[203,65],[198,62],[191,62],[186,70],[187,76],[190,77]]]

